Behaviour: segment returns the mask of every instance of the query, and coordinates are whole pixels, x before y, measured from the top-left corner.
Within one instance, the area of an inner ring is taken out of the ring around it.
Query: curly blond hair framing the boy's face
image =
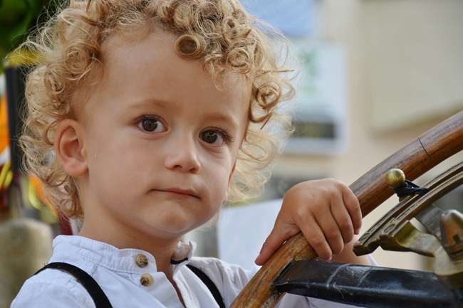
[[[213,78],[230,70],[251,82],[249,124],[229,200],[256,196],[269,178],[266,167],[281,152],[291,121],[276,110],[294,92],[286,57],[272,46],[274,38],[282,36],[260,26],[238,1],[71,0],[22,46],[36,53],[40,63],[26,81],[28,114],[21,136],[25,168],[43,182],[48,200],[68,217],[83,218],[84,213],[78,181],[63,171],[54,155],[56,127],[76,118],[83,103],[73,100],[74,93],[89,85],[90,73],[103,72],[105,40],[112,33],[142,33],[154,24],[175,35],[180,56],[202,59]]]

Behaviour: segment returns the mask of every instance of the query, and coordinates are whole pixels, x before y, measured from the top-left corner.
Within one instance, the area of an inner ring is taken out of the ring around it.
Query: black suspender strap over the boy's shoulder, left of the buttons
[[[42,267],[41,270],[38,270],[38,272],[36,272],[34,275],[37,275],[39,272],[41,272],[42,270],[46,270],[47,268],[62,270],[63,272],[67,272],[68,274],[71,274],[74,277],[76,277],[76,280],[80,282],[80,284],[83,285],[83,287],[85,287],[85,290],[87,290],[88,294],[90,294],[90,297],[92,297],[93,302],[95,302],[96,308],[113,308],[113,306],[111,306],[111,303],[109,302],[108,297],[106,297],[105,292],[101,290],[98,283],[85,271],[80,270],[80,268],[68,263],[53,262],[48,263],[48,265]]]

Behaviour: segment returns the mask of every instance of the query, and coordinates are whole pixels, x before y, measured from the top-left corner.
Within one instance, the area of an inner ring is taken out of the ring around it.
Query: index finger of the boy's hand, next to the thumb
[[[308,216],[307,223],[303,226],[302,233],[312,248],[316,251],[318,257],[323,261],[331,260],[333,252],[326,240],[323,230],[318,225],[315,218]]]

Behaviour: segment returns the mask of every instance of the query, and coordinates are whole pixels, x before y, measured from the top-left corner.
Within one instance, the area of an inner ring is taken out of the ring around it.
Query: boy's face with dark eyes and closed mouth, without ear
[[[78,118],[88,165],[78,179],[83,230],[178,239],[227,199],[250,87],[226,73],[217,89],[202,61],[180,58],[162,31],[112,41],[103,79]]]

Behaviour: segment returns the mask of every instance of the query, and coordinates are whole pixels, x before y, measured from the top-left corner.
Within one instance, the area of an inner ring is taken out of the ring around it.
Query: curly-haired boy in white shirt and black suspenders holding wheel
[[[180,239],[259,188],[286,137],[275,128],[288,123],[276,112],[291,96],[287,69],[253,23],[234,0],[71,1],[28,45],[46,59],[27,82],[28,169],[83,220],[78,236],[54,240],[50,262],[90,274],[113,307],[218,307],[188,264],[226,307],[251,277],[192,257],[195,244]],[[360,225],[347,186],[299,184],[256,263],[300,230],[323,260],[368,263],[343,250]],[[280,304],[343,307],[296,296]],[[11,307],[95,303],[75,277],[43,270]]]

